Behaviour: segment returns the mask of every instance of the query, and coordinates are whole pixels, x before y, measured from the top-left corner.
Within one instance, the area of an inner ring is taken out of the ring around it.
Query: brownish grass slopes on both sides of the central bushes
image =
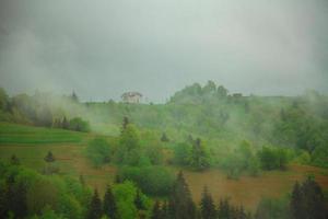
[[[83,155],[85,146],[81,145],[1,145],[0,158],[9,159],[15,153],[23,164],[35,170],[45,165],[44,157],[51,150],[57,159],[57,164],[65,174],[79,177],[82,174],[89,185],[104,193],[107,184],[113,183],[116,168],[105,165],[95,169]],[[172,168],[174,172],[179,169]],[[246,209],[254,210],[261,197],[281,197],[288,194],[295,181],[303,181],[306,175],[314,174],[316,181],[328,188],[327,170],[306,165],[290,165],[286,171],[262,172],[258,177],[241,176],[239,180],[227,180],[220,170],[192,172],[184,170],[185,177],[191,189],[194,199],[198,203],[203,186],[208,186],[215,201],[220,198],[231,198],[235,205],[243,204]]]

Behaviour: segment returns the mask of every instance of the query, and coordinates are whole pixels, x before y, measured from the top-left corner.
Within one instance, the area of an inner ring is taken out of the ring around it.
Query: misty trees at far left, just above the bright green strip
[[[36,92],[32,96],[19,94],[9,97],[5,91],[0,88],[0,120],[77,131],[90,131],[89,123],[81,117],[67,119],[66,116],[62,116],[61,118],[56,118],[56,115],[62,114],[62,110],[58,110],[57,106],[54,106],[51,99],[52,96],[50,94],[40,92]],[[79,103],[79,97],[74,92],[72,95],[61,99],[62,102],[71,104]]]

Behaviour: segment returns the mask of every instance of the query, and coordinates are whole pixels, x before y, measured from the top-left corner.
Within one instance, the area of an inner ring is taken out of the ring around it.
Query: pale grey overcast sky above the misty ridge
[[[0,87],[85,101],[194,82],[328,92],[327,0],[0,0]]]

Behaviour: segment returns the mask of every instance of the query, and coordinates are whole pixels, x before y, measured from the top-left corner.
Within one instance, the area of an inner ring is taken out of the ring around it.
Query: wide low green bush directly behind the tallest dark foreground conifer
[[[163,166],[125,166],[119,175],[134,182],[143,193],[155,196],[168,195],[174,181],[174,175]]]

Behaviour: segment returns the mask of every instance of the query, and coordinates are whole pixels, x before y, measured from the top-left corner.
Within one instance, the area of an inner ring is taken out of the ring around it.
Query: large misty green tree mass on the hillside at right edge
[[[327,101],[318,94],[297,99],[281,108],[274,125],[274,142],[307,152],[309,163],[328,168]]]

